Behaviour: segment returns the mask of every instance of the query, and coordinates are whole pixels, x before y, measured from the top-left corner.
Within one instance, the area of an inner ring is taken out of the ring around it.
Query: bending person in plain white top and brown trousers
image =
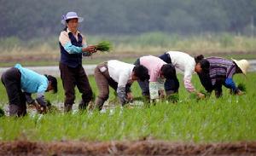
[[[96,98],[96,107],[99,110],[108,100],[109,87],[117,92],[119,103],[124,106],[132,99],[131,84],[136,80],[148,79],[148,69],[145,66],[134,66],[122,61],[108,61],[96,66],[94,76],[99,95]]]

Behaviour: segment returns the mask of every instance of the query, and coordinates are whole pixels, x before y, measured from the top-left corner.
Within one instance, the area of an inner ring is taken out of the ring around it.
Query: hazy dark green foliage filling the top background
[[[82,32],[138,34],[167,32],[251,33],[253,0],[15,0],[0,1],[0,37],[38,38],[58,34],[61,16],[76,11],[84,17]]]

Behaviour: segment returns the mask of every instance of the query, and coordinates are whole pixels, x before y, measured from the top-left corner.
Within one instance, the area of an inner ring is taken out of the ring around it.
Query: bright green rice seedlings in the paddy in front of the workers
[[[242,96],[230,95],[229,90],[224,89],[224,96],[220,99],[212,95],[207,101],[196,101],[189,98],[180,82],[180,100],[176,104],[159,102],[150,107],[117,108],[113,115],[95,111],[79,114],[52,113],[44,115],[40,120],[38,116],[4,117],[0,118],[0,140],[110,141],[152,137],[173,142],[255,141],[255,79],[255,72],[249,73],[247,79],[241,75],[235,77],[236,84],[246,84],[247,94]],[[193,81],[196,88],[201,90],[196,75]],[[93,77],[90,77],[90,84],[93,91],[97,92]],[[0,86],[3,93],[3,85]],[[134,95],[140,95],[137,84],[132,86],[132,91]],[[63,101],[63,91],[60,90],[58,95],[47,94],[47,98]],[[113,92],[110,98],[113,99]],[[1,95],[1,102],[7,102],[6,95]]]

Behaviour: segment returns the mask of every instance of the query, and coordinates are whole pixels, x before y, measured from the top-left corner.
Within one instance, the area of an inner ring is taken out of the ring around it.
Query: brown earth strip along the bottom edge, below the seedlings
[[[256,142],[0,142],[0,155],[256,155]]]

